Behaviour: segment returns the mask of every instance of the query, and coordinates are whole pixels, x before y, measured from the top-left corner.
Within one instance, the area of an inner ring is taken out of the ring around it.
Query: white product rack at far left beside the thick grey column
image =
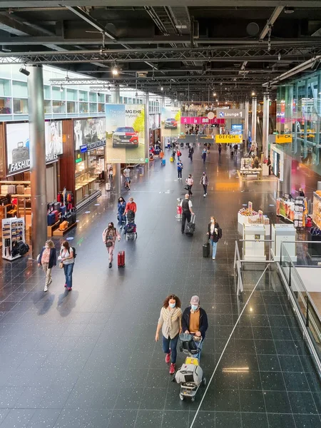
[[[16,241],[25,241],[24,218],[4,218],[2,219],[2,258],[6,260],[15,260],[21,257],[17,254],[11,255],[13,243]]]

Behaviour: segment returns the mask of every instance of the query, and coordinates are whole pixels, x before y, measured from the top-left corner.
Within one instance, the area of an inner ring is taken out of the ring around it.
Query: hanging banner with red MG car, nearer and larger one
[[[145,105],[106,104],[108,163],[145,162]]]

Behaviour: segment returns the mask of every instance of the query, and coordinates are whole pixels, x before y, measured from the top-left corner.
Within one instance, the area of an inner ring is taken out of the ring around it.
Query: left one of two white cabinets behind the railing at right
[[[264,225],[245,224],[243,228],[243,240],[243,259],[248,262],[265,262]]]

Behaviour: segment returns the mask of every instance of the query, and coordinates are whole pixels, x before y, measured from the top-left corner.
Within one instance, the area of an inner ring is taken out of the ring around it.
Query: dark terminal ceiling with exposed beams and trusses
[[[320,1],[159,3],[2,0],[0,67],[51,64],[96,87],[102,80],[185,101],[261,98],[285,72],[319,64]]]

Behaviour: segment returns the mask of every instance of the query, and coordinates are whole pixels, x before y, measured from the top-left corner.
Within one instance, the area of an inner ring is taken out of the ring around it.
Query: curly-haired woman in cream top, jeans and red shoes
[[[163,351],[165,352],[165,362],[170,362],[170,374],[175,373],[177,342],[182,331],[182,310],[181,303],[176,295],[169,295],[163,302],[161,315],[156,328],[155,340],[158,342],[159,332],[163,333]]]

